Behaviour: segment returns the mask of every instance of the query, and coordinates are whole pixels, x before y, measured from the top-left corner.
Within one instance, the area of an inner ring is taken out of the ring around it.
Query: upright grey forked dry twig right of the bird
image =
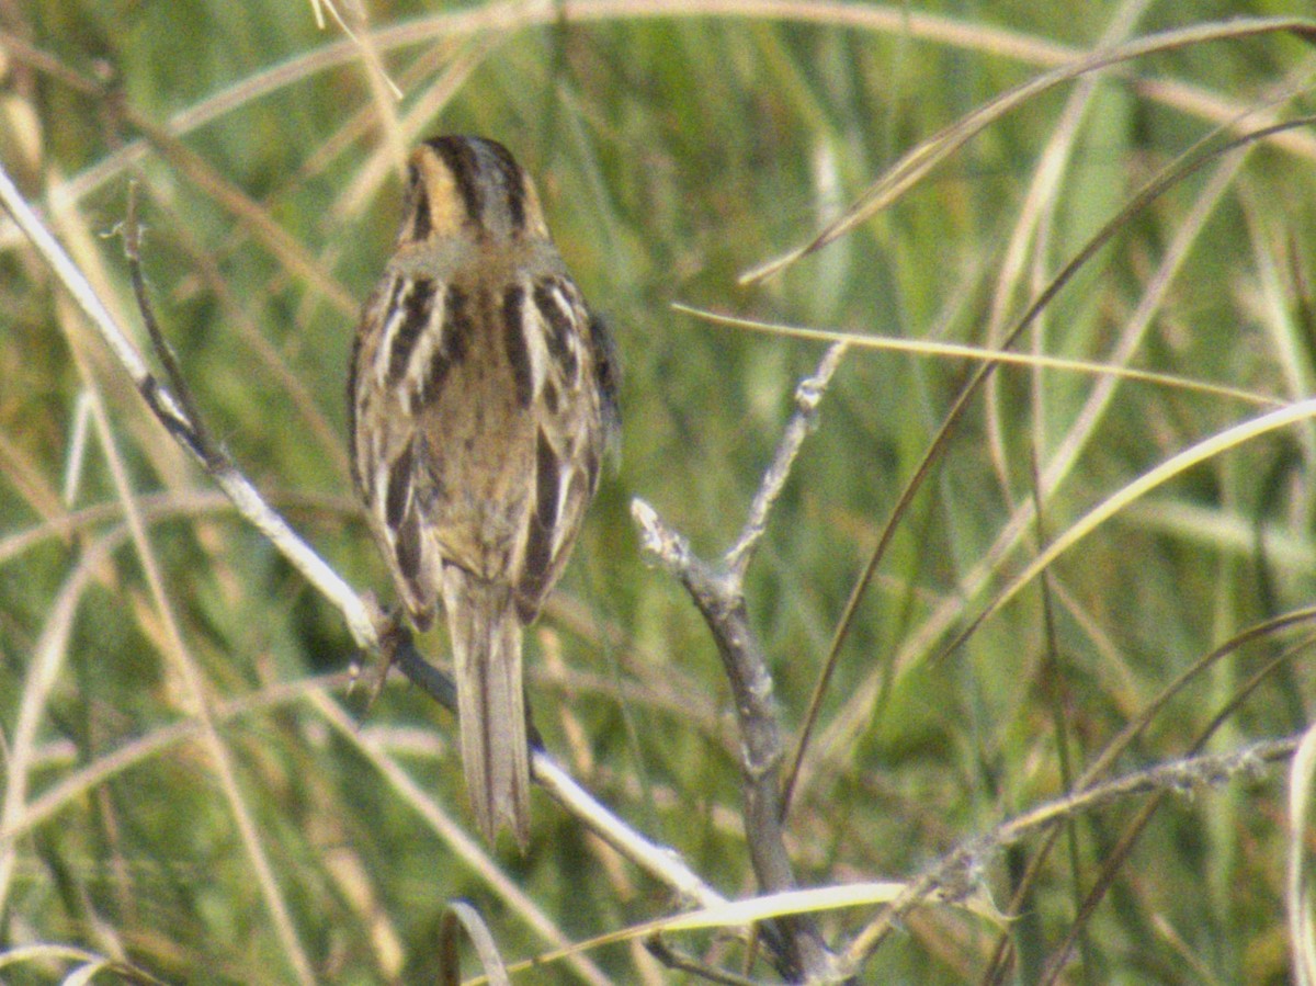
[[[844,344],[829,346],[816,373],[796,390],[795,415],[763,475],[740,537],[721,559],[709,563],[697,558],[690,542],[667,527],[644,500],[636,499],[630,506],[645,550],[655,556],[690,592],[713,635],[730,681],[741,732],[745,837],[754,874],[765,893],[794,890],[795,874],[784,843],[782,731],[772,702],[772,675],[745,608],[745,571],[844,353]],[[775,925],[780,931],[780,941],[772,944],[784,966],[783,974],[788,978],[834,979],[833,957],[811,918],[780,918]]]

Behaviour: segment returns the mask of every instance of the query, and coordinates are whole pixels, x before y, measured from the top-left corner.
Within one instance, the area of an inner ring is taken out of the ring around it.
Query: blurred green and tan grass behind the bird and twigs
[[[367,0],[368,28],[358,26],[376,32],[405,93],[395,108],[405,142],[487,134],[538,176],[562,251],[619,337],[621,465],[529,638],[547,746],[715,886],[747,895],[725,682],[688,599],[644,563],[629,503],[645,498],[700,553],[724,550],[821,346],[670,304],[995,345],[1195,141],[1230,122],[1254,129],[1269,112],[1312,112],[1313,62],[1300,41],[1273,34],[1057,87],[891,209],[783,275],[740,286],[912,146],[1103,38],[1303,5],[699,7]],[[134,328],[116,228],[128,182],[139,182],[146,272],[211,428],[353,584],[387,596],[342,437],[355,305],[382,267],[399,197],[387,96],[359,50],[288,0],[4,3],[0,25],[5,169]],[[1019,346],[1253,400],[1125,380],[1083,417],[1109,378],[1012,367],[970,405],[842,642],[790,819],[804,885],[908,878],[1058,796],[1178,675],[1308,604],[1316,433],[1304,421],[1211,455],[1120,511],[1049,569],[1045,594],[1032,582],[946,649],[1091,507],[1270,407],[1258,400],[1312,396],[1313,161],[1316,137],[1296,129],[1175,182],[1120,224]],[[500,845],[480,862],[482,848],[463,841],[449,715],[404,683],[368,712],[362,695],[345,695],[353,645],[338,613],[143,412],[8,222],[0,271],[7,764],[20,737],[30,741],[21,777],[7,770],[7,975],[39,982],[71,968],[13,952],[59,943],[176,982],[296,981],[296,949],[303,978],[417,982],[433,975],[440,916],[457,896],[480,908],[509,958],[547,950],[551,928],[583,940],[672,910],[663,887],[542,799],[529,853]],[[788,737],[891,507],[973,367],[851,349],[821,405],[747,591]],[[126,536],[120,467],[171,615]],[[1038,475],[1040,523],[1024,512]],[[1313,699],[1304,635],[1259,635],[1203,669],[1116,771],[1188,754],[1238,696],[1207,749],[1302,729]],[[426,648],[442,654],[441,635]],[[199,695],[228,773],[200,739]],[[1075,923],[1145,798],[1069,823],[1004,928],[1007,979],[1037,981],[1079,927],[1063,973],[1075,982],[1286,981],[1275,767],[1165,800]],[[980,861],[999,907],[1042,846],[1037,837]],[[495,868],[525,900],[500,889]],[[844,943],[869,918],[837,911],[824,929]],[[869,969],[882,981],[979,981],[1001,931],[921,908]],[[738,961],[719,939],[680,941]],[[588,960],[592,970],[534,975],[675,978],[637,944]]]

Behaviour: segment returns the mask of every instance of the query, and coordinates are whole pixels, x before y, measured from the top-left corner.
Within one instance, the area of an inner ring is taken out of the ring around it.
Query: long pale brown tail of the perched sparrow
[[[491,843],[507,825],[530,837],[530,764],[521,687],[521,623],[507,586],[443,566],[462,764],[475,820]]]

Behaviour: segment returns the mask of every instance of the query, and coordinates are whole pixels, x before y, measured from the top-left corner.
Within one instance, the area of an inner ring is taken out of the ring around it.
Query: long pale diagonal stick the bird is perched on
[[[271,508],[251,482],[242,475],[222,449],[211,445],[168,387],[146,366],[141,353],[129,341],[114,316],[104,305],[87,278],[72,262],[55,237],[46,229],[22,197],[8,171],[0,165],[0,204],[28,237],[45,263],[54,271],[64,290],[78,303],[101,341],[128,373],[151,413],[184,449],[187,449],[242,515],[301,575],[343,615],[349,629],[363,650],[380,646],[380,615],[367,604],[316,552],[301,540],[288,523]],[[415,650],[412,648],[412,650]],[[399,648],[405,656],[407,648]],[[418,658],[420,663],[425,663]],[[430,671],[436,669],[425,663]],[[434,694],[432,675],[413,679]],[[450,687],[450,685],[449,685]],[[436,695],[442,702],[442,687]],[[655,845],[625,821],[609,812],[576,785],[546,753],[533,752],[534,777],[549,795],[571,815],[588,825],[599,837],[633,864],[676,891],[683,903],[712,906],[725,898],[709,887],[671,849]]]

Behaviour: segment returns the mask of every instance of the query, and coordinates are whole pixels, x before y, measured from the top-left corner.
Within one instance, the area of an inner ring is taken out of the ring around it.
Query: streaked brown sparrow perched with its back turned
[[[437,137],[411,155],[353,345],[349,423],[357,490],[417,629],[443,600],[475,817],[524,848],[521,629],[566,566],[620,415],[608,329],[500,143]]]

